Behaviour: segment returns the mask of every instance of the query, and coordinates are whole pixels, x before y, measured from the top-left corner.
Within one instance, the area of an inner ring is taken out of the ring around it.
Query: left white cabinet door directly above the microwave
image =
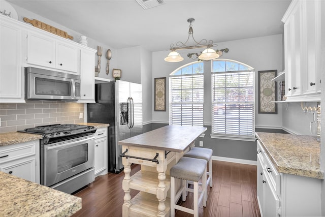
[[[39,34],[28,33],[27,64],[55,68],[55,40]]]

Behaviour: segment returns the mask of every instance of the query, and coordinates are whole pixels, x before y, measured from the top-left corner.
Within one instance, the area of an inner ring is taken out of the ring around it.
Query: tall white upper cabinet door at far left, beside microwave
[[[24,103],[22,30],[8,19],[0,18],[0,101]]]

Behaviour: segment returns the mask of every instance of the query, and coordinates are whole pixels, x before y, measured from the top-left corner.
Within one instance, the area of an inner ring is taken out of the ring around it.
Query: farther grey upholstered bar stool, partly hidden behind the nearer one
[[[210,184],[210,187],[212,187],[212,153],[213,150],[210,148],[192,147],[184,154],[184,157],[204,159],[207,161],[207,164],[209,165],[209,171],[207,172],[207,175],[209,175],[207,185]]]

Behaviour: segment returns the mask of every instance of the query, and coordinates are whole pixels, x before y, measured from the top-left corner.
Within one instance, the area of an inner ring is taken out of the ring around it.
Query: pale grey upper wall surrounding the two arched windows
[[[229,48],[228,53],[224,53],[221,58],[233,59],[247,64],[255,69],[255,86],[257,87],[258,71],[278,70],[282,72],[283,67],[283,43],[282,35],[274,35],[267,37],[250,38],[229,42],[220,42],[218,49]],[[192,51],[190,51],[192,52]],[[168,51],[153,52],[152,54],[152,79],[156,77],[167,77],[171,72],[180,66],[192,62],[183,51],[181,55],[184,60],[179,63],[168,63],[164,58],[168,55]],[[210,64],[206,61],[205,64]],[[207,80],[206,80],[207,79]],[[168,80],[168,79],[167,79]],[[205,76],[205,110],[204,123],[211,124],[211,81],[210,76]],[[153,82],[153,81],[152,81]],[[167,82],[167,97],[169,97],[169,83]],[[210,95],[210,96],[209,96]],[[258,114],[258,92],[255,88],[255,125],[256,127],[279,127],[282,126],[282,105],[278,105],[278,114]],[[168,99],[168,98],[167,98]],[[168,101],[168,100],[167,100]],[[153,112],[153,122],[168,122],[169,120],[169,103],[167,102],[166,112]]]

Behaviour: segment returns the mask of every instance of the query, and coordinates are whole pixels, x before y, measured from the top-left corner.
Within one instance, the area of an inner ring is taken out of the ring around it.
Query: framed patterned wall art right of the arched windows
[[[277,82],[272,81],[277,70],[258,71],[258,113],[277,114]],[[273,102],[272,102],[273,101]]]

